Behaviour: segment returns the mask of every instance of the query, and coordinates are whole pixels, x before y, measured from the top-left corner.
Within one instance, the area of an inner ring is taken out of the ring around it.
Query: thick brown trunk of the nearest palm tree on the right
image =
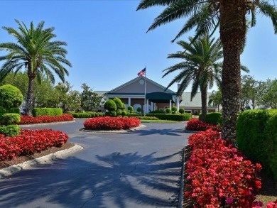
[[[236,143],[236,124],[240,107],[240,54],[246,35],[245,0],[220,1],[220,38],[222,67],[222,138]]]

